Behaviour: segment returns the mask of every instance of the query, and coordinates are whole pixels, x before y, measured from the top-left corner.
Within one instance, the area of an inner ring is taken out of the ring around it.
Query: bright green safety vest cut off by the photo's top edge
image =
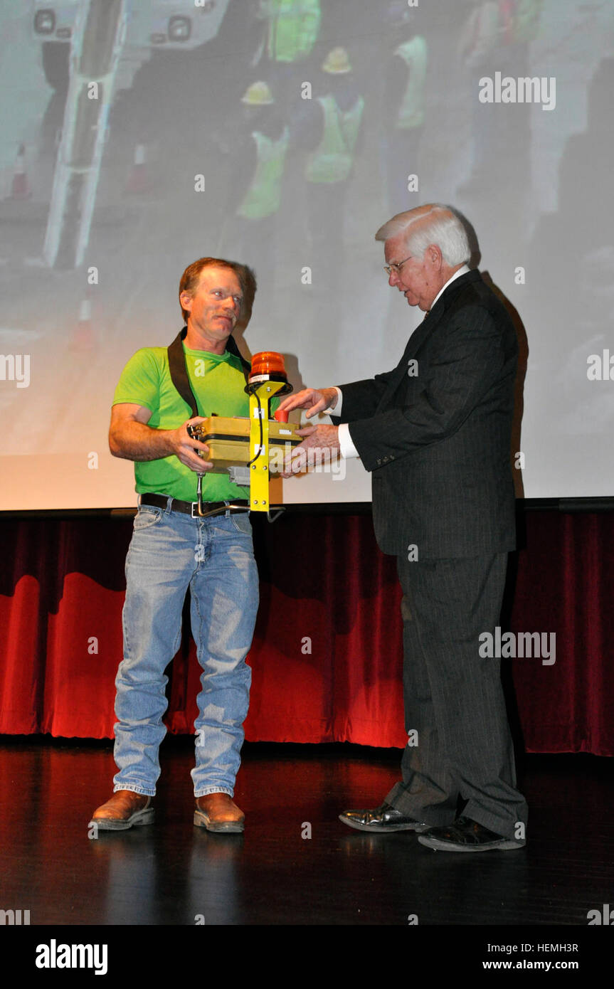
[[[260,16],[269,21],[267,51],[271,61],[307,58],[319,32],[319,0],[263,0]]]

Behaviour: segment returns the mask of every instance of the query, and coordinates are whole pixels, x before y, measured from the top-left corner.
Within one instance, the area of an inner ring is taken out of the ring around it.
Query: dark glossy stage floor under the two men
[[[527,847],[473,855],[342,825],[341,810],[380,802],[399,760],[349,745],[246,745],[235,794],[245,833],[211,835],[192,823],[192,746],[162,747],[153,826],[91,839],[90,815],[112,791],[112,744],[2,739],[0,909],[29,910],[33,926],[506,928],[586,928],[590,910],[614,909],[606,759],[525,757]]]

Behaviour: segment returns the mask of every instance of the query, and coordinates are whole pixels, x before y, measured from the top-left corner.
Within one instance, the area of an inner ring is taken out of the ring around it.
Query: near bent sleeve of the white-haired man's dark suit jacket
[[[504,335],[487,309],[459,309],[434,332],[436,345],[427,362],[418,358],[417,377],[402,375],[391,401],[382,402],[381,408],[374,408],[377,396],[383,398],[381,385],[365,388],[364,417],[346,420],[368,471],[451,436],[501,376],[506,361]],[[346,409],[343,388],[342,392],[345,416],[355,403]],[[355,390],[352,399],[358,397]]]

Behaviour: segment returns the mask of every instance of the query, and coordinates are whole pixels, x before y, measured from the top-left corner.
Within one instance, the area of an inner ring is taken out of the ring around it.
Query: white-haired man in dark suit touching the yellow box
[[[515,788],[499,662],[480,655],[515,546],[516,335],[467,266],[467,233],[451,210],[398,214],[376,239],[389,284],[423,321],[393,371],[281,405],[341,423],[307,426],[302,446],[359,456],[372,472],[376,536],[396,556],[403,590],[402,780],[380,807],[340,819],[361,831],[416,831],[433,849],[519,849],[527,806]]]

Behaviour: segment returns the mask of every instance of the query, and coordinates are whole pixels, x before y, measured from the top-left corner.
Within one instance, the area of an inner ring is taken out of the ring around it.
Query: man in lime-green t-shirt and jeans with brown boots
[[[198,454],[208,448],[192,439],[188,426],[214,413],[248,414],[243,366],[231,334],[255,286],[249,268],[219,258],[200,258],[181,278],[181,345],[198,415],[173,384],[166,347],[137,351],[116,389],[109,444],[114,456],[134,461],[139,505],[126,562],[124,661],[116,679],[119,771],[114,796],[90,822],[99,829],[125,830],[153,819],[158,749],[166,732],[164,671],[179,647],[189,587],[203,669],[192,770],[194,823],[210,831],[243,831],[244,815],[232,797],[249,702],[245,657],[256,620],[258,575],[247,511],[224,506],[237,500],[246,506],[246,492],[227,475],[211,473],[212,464]],[[196,510],[199,474],[206,510],[219,508],[218,514],[201,517]]]

